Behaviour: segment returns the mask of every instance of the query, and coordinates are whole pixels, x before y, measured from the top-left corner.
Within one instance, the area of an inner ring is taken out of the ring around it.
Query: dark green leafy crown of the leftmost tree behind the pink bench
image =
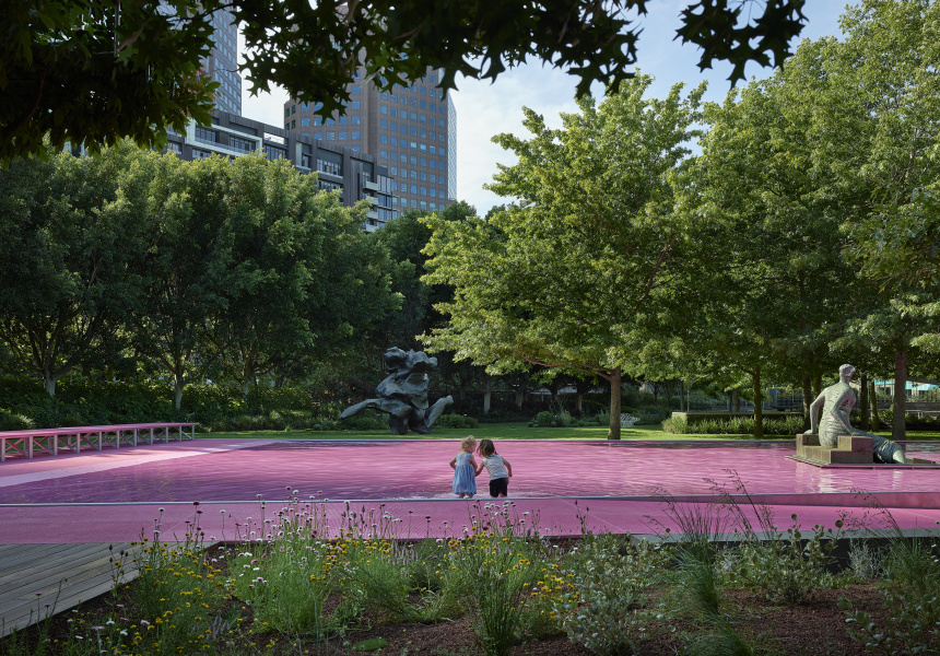
[[[0,171],[0,340],[49,396],[139,309],[160,232],[148,220],[157,159],[121,144]]]

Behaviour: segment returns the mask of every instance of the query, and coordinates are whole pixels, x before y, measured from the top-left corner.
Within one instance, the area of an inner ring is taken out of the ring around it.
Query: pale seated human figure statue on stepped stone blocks
[[[848,383],[853,374],[855,374],[855,367],[850,364],[844,364],[838,368],[839,382],[823,389],[810,407],[810,431],[806,434],[819,434],[820,446],[827,448],[838,446],[839,435],[870,437],[876,462],[904,465],[904,452],[896,443],[881,435],[851,427],[848,418],[855,406],[855,390]],[[823,407],[822,420],[816,425],[816,414],[821,406]]]

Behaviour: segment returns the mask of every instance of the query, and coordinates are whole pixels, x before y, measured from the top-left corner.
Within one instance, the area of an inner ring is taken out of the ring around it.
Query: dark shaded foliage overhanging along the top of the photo
[[[779,65],[806,17],[804,0],[701,0],[678,36],[701,46],[701,67]],[[167,126],[209,122],[215,83],[202,74],[213,21],[244,25],[243,71],[252,93],[280,84],[332,115],[349,101],[360,61],[384,89],[442,69],[495,79],[530,58],[567,69],[578,94],[633,73],[641,28],[627,17],[646,0],[512,2],[289,2],[286,0],[7,0],[0,5],[0,160],[43,152],[49,134],[97,148],[132,137],[165,141]],[[227,10],[230,14],[223,13]]]

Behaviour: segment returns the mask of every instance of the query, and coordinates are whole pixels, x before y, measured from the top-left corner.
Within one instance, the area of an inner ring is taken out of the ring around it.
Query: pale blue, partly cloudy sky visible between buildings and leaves
[[[731,67],[715,62],[713,69],[700,72],[700,48],[673,40],[675,30],[680,26],[679,12],[689,4],[688,0],[657,0],[648,3],[649,13],[639,17],[637,23],[643,33],[637,44],[636,68],[655,78],[648,95],[665,97],[678,82],[683,82],[686,89],[694,89],[707,80],[705,101],[720,102],[730,90],[728,75]],[[838,36],[838,17],[844,8],[844,0],[809,0],[803,9],[809,22],[798,39]],[[796,43],[791,49],[795,47]],[[745,70],[749,79],[762,79],[772,73],[772,68],[754,63],[750,63]],[[516,67],[492,83],[458,78],[457,92],[451,92],[457,107],[457,199],[475,207],[481,216],[494,204],[510,201],[509,198],[501,198],[483,189],[485,184],[492,181],[497,163],[510,165],[515,162],[515,156],[493,143],[492,137],[509,132],[528,138],[529,133],[522,127],[522,106],[542,115],[550,128],[561,127],[559,115],[577,109],[574,103],[576,83],[577,78],[540,62]],[[242,114],[247,118],[280,125],[287,99],[286,91],[279,89],[274,93],[251,97],[248,86],[243,80]],[[592,89],[596,95],[602,91],[599,84]]]

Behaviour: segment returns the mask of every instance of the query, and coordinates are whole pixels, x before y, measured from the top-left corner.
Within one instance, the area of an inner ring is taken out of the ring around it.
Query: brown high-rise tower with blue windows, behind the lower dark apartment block
[[[457,112],[438,86],[442,71],[408,86],[379,91],[361,68],[350,85],[345,116],[321,117],[318,107],[284,104],[284,129],[371,154],[388,166],[392,209],[439,210],[457,195]]]

